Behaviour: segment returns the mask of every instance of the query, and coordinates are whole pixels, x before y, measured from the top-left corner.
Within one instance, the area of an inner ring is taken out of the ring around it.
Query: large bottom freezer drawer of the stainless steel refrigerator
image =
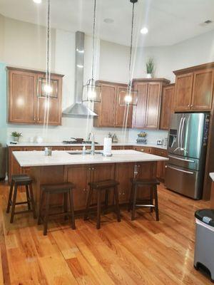
[[[166,165],[165,187],[193,199],[201,199],[202,185],[199,171]]]

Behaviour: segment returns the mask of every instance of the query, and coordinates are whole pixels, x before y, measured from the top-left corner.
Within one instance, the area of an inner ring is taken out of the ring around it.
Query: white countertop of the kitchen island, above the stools
[[[55,150],[51,156],[45,156],[44,151],[14,151],[14,157],[21,167],[51,166],[51,165],[87,165],[96,163],[118,163],[118,162],[150,162],[168,160],[166,157],[150,155],[136,150],[113,150],[111,157],[96,155],[71,155],[65,150]]]

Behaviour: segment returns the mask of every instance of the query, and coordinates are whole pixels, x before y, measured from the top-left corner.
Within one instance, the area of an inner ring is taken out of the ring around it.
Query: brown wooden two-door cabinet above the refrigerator
[[[212,110],[214,63],[205,63],[174,73],[175,111]]]

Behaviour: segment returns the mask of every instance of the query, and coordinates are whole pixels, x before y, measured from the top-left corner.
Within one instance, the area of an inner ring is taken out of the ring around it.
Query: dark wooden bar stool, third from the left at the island
[[[118,199],[118,185],[119,182],[116,180],[102,180],[102,181],[96,181],[96,182],[90,182],[88,183],[90,186],[90,190],[88,193],[88,199],[86,203],[86,211],[84,214],[84,220],[88,219],[88,212],[91,205],[91,197],[93,195],[93,190],[97,190],[97,220],[96,220],[96,228],[101,228],[101,192],[103,190],[106,190],[105,193],[105,209],[108,207],[108,192],[110,189],[113,189],[113,195],[115,200],[115,209],[117,214],[118,222],[121,222],[121,214],[120,214],[120,208],[119,208],[119,199]]]

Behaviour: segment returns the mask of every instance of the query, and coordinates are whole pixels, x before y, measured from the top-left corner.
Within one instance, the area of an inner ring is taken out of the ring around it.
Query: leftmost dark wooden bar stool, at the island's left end
[[[29,175],[12,175],[11,177],[11,187],[9,191],[9,199],[6,208],[6,212],[9,213],[10,207],[12,206],[11,210],[11,220],[10,222],[14,222],[14,214],[24,214],[28,212],[33,212],[34,219],[36,219],[36,209],[35,209],[35,202],[34,202],[34,194],[32,188],[31,177]],[[17,190],[19,186],[26,187],[26,201],[24,202],[16,202]],[[15,212],[16,205],[19,204],[28,204],[28,209],[24,211]],[[32,208],[32,209],[31,209]]]

